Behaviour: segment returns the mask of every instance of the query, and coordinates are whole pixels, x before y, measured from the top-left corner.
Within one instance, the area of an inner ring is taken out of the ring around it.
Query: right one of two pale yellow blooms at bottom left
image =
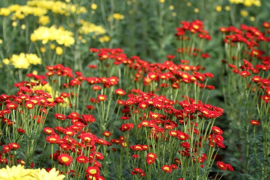
[[[62,180],[65,177],[65,175],[59,174],[59,171],[55,168],[50,169],[48,172],[44,168],[38,168],[32,170],[31,175],[36,180]]]

